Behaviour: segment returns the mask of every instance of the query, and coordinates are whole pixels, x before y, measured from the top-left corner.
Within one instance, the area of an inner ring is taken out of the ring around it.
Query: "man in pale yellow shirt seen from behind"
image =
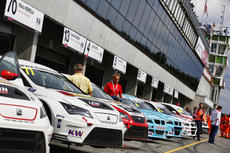
[[[78,86],[83,92],[92,96],[93,88],[90,80],[83,75],[83,66],[81,64],[74,65],[74,74],[69,77],[76,86]]]

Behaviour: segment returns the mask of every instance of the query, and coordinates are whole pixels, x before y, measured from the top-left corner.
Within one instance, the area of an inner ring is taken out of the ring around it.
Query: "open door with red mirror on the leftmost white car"
[[[9,51],[0,58],[0,77],[18,85],[22,85],[18,58],[15,51]]]

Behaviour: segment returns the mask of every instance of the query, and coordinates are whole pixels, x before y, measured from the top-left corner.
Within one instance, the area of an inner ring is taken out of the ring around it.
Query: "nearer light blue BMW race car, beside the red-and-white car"
[[[131,95],[123,94],[121,102],[128,104],[145,115],[147,123],[149,125],[148,137],[149,138],[161,138],[167,139],[167,134],[172,134],[172,125],[167,124],[169,120],[166,120],[164,117],[160,117],[153,113],[152,107],[146,104],[143,100],[136,98]]]

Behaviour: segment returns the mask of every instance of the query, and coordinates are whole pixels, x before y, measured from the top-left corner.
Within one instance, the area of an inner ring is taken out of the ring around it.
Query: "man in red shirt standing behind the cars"
[[[122,88],[121,85],[118,84],[119,80],[120,74],[115,73],[113,75],[112,81],[107,83],[104,88],[104,91],[110,96],[112,96],[114,100],[119,100],[120,98],[122,98]]]

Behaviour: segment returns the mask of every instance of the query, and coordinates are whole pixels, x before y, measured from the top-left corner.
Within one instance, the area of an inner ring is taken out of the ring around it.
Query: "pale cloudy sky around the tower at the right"
[[[204,15],[204,5],[205,0],[192,0],[195,6],[195,12],[198,16],[198,19],[201,23],[206,22],[206,18]],[[225,5],[225,13],[224,13],[224,26],[230,27],[230,0],[207,0],[208,7],[208,24],[215,23],[216,25],[220,25],[220,16],[221,16],[221,8],[222,4]],[[230,63],[230,52],[228,54],[228,61]],[[223,113],[230,113],[230,68],[228,67],[227,72],[225,74],[225,89],[221,90],[219,104],[223,106]]]

